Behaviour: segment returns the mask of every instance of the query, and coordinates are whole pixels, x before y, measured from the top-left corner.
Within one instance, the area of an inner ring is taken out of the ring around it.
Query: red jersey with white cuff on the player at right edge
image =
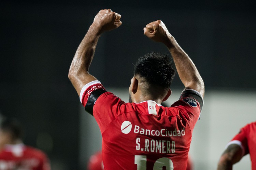
[[[256,170],[256,122],[244,126],[227,146],[231,144],[239,145],[243,150],[243,155],[250,154],[252,170]]]

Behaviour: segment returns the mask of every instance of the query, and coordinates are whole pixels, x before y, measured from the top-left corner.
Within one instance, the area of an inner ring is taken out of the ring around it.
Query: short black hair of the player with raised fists
[[[138,58],[134,75],[140,75],[152,85],[169,88],[176,71],[171,58],[158,52],[147,53]]]

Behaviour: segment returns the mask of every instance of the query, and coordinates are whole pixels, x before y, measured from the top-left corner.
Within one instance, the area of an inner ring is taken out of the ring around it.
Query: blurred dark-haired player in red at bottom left
[[[18,122],[5,119],[0,126],[0,170],[50,170],[47,156],[22,142]]]

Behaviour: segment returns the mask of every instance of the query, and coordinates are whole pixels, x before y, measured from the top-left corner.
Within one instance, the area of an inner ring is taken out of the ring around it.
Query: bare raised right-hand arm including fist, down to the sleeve
[[[195,64],[169,33],[165,24],[161,20],[151,22],[144,28],[144,34],[154,41],[165,44],[169,49],[185,89],[196,90],[204,96],[204,83]]]

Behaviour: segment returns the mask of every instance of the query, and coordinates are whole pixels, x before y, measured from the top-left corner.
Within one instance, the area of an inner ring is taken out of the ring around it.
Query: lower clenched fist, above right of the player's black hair
[[[171,36],[165,24],[161,20],[151,22],[143,29],[144,34],[157,42],[166,43]]]

